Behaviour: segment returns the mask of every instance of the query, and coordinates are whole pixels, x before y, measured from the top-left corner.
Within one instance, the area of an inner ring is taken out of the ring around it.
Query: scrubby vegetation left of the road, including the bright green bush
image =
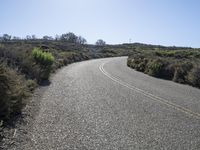
[[[29,97],[38,85],[48,83],[58,68],[92,58],[126,55],[122,47],[95,45],[74,33],[55,38],[26,36],[21,39],[4,34],[0,37],[0,126],[21,114]],[[1,128],[0,128],[1,130]]]

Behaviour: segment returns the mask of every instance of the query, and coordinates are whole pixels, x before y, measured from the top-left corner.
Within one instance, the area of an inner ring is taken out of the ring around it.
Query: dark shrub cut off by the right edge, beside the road
[[[188,74],[188,81],[193,86],[200,87],[200,68],[193,68]]]

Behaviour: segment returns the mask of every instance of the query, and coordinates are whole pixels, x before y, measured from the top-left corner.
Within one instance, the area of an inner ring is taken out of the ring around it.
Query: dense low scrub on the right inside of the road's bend
[[[150,76],[200,88],[200,49],[159,46],[135,49],[127,65]]]

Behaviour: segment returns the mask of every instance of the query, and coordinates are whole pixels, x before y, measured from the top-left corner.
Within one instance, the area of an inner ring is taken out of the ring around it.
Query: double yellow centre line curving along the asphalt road
[[[118,79],[118,78],[112,76],[111,74],[109,74],[108,72],[106,72],[105,69],[103,68],[104,65],[105,65],[106,63],[108,63],[108,62],[109,62],[109,61],[107,61],[107,62],[105,62],[105,63],[102,63],[102,64],[99,66],[99,69],[100,69],[100,71],[101,71],[105,76],[107,76],[107,77],[110,78],[111,80],[113,80],[113,81],[119,83],[120,85],[122,85],[122,86],[124,86],[124,87],[126,87],[126,88],[128,88],[128,89],[130,89],[130,90],[133,90],[133,91],[136,91],[136,92],[138,92],[138,93],[140,93],[140,94],[143,94],[144,96],[146,96],[146,97],[148,97],[148,98],[151,98],[151,99],[154,100],[154,101],[160,102],[160,103],[165,104],[165,105],[167,105],[167,106],[169,106],[169,107],[173,107],[174,109],[176,109],[176,110],[178,110],[178,111],[184,112],[184,113],[186,113],[186,114],[188,114],[188,115],[190,115],[190,116],[193,116],[193,117],[195,117],[195,118],[197,118],[197,119],[200,119],[200,114],[199,114],[199,113],[193,112],[193,111],[191,111],[190,109],[187,109],[187,108],[185,108],[185,107],[182,107],[182,106],[180,106],[180,105],[177,105],[177,104],[175,104],[175,103],[172,103],[172,102],[170,102],[169,100],[166,100],[166,99],[164,99],[164,98],[161,98],[161,97],[158,97],[158,96],[156,96],[156,95],[153,95],[153,94],[151,94],[151,93],[149,93],[149,92],[147,92],[147,91],[144,91],[144,90],[142,90],[142,89],[139,89],[139,88],[137,88],[137,87],[135,87],[135,86],[133,86],[133,85],[130,85],[130,84],[128,84],[128,83],[125,83],[125,82],[123,82],[122,80],[120,80],[120,79]]]

